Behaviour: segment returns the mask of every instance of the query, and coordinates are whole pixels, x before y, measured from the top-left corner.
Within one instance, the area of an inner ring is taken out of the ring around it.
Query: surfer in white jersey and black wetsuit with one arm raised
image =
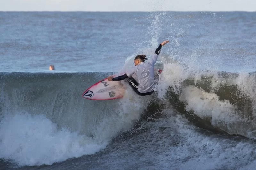
[[[161,51],[162,46],[167,44],[169,41],[164,41],[161,44],[159,44],[158,48],[156,48],[156,51],[152,58],[149,60],[146,58],[146,55],[140,54],[137,55],[134,58],[135,67],[128,70],[124,75],[113,77],[109,76],[108,81],[121,81],[125,78],[128,78],[132,76],[133,74],[136,74],[138,78],[138,85],[133,83],[134,79],[129,79],[128,81],[132,83],[133,89],[135,92],[140,96],[146,96],[151,95],[154,92],[154,64],[156,63],[157,57]],[[145,62],[145,60],[148,60],[148,62]]]

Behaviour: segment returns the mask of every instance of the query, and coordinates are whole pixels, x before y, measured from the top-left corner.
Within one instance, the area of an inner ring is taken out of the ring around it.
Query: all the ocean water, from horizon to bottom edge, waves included
[[[255,169],[255,12],[0,12],[0,33],[1,170]],[[164,40],[153,95],[82,98]]]

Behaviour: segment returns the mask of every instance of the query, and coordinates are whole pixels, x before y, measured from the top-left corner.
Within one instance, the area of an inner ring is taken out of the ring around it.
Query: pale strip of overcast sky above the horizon
[[[0,0],[0,11],[256,11],[256,0]]]

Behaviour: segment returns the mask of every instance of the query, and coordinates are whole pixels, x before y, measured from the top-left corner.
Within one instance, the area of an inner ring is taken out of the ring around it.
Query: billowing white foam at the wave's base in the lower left
[[[64,161],[105,148],[97,141],[68,129],[58,129],[44,115],[6,115],[0,124],[0,158],[19,166],[35,166]]]

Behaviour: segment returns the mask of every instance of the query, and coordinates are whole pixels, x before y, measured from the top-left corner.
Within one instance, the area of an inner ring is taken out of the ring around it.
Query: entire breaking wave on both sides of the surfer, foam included
[[[124,98],[108,101],[86,100],[81,94],[112,73],[0,73],[0,147],[12,147],[0,157],[24,166],[93,154],[112,139],[140,133],[145,122],[164,119],[168,109],[201,128],[255,139],[255,73],[195,71],[179,63],[163,67],[152,96],[128,89]],[[28,154],[46,138],[48,150]],[[82,148],[79,154],[77,148]]]

